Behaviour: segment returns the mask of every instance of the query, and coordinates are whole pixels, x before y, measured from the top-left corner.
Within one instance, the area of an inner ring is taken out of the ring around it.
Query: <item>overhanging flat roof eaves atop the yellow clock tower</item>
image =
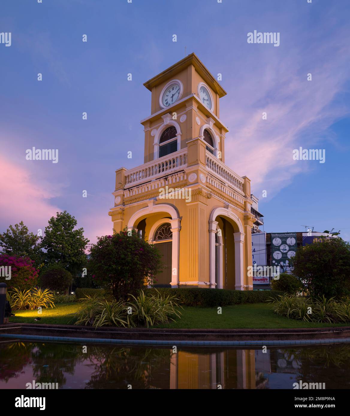
[[[191,53],[185,58],[181,59],[180,61],[173,64],[171,67],[165,69],[160,74],[156,75],[155,77],[146,81],[143,85],[152,91],[152,88],[163,82],[165,79],[173,77],[173,75],[178,74],[184,68],[188,67],[189,65],[193,65],[196,71],[200,74],[200,76],[205,80],[205,82],[213,88],[219,95],[219,97],[224,97],[227,93],[218,83],[218,81],[213,77],[212,74],[208,71],[208,69],[204,66],[203,62],[200,61],[198,56],[195,53]]]

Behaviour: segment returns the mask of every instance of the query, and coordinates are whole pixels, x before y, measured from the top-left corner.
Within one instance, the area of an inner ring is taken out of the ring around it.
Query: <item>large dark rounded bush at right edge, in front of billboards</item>
[[[350,295],[350,245],[342,238],[321,237],[297,250],[292,264],[312,297]]]

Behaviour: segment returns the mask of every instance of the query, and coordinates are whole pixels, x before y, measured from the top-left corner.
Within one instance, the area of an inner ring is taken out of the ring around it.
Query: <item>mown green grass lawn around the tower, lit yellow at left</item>
[[[42,324],[74,324],[75,312],[80,304],[59,303],[53,309],[43,309],[42,314],[37,311],[17,311],[10,322],[27,322]],[[224,306],[222,314],[216,308],[200,308],[185,306],[181,319],[177,322],[159,325],[158,328],[322,328],[341,327],[348,324],[321,324],[288,319],[275,315],[270,305],[265,303],[247,303],[244,305]],[[39,322],[34,319],[40,317]]]

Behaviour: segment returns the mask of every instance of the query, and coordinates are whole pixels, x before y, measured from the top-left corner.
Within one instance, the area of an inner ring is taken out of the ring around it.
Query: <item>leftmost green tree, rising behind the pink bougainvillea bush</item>
[[[28,227],[23,221],[10,225],[6,232],[0,234],[0,246],[2,253],[17,257],[29,257],[39,267],[44,261],[44,253],[41,250],[40,237],[29,233]]]

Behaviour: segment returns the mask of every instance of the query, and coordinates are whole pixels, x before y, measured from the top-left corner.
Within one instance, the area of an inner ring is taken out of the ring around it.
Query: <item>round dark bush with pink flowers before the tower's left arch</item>
[[[90,254],[92,277],[111,289],[117,300],[128,300],[129,293],[137,295],[161,269],[158,249],[142,240],[135,230],[98,237]]]

